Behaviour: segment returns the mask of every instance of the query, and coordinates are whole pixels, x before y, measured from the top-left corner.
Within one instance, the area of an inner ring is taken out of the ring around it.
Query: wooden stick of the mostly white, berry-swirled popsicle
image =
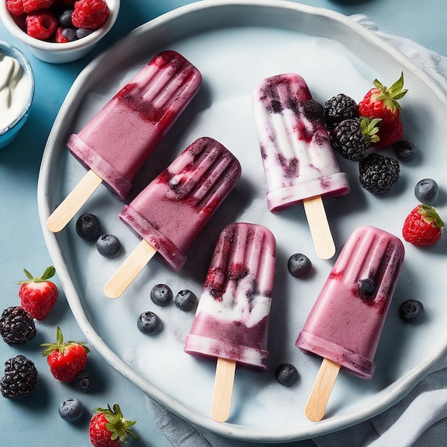
[[[303,204],[318,258],[332,258],[336,252],[336,247],[333,243],[331,228],[329,228],[321,196],[304,199]]]

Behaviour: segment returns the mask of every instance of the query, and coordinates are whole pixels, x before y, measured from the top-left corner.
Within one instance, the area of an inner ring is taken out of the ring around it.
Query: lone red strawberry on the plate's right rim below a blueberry
[[[431,205],[419,204],[405,219],[402,236],[413,245],[425,247],[439,241],[444,223]]]

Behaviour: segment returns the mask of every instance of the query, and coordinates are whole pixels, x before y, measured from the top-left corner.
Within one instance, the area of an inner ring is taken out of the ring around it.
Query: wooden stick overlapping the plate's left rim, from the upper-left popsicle
[[[74,215],[81,209],[91,194],[96,191],[101,184],[101,177],[91,169],[87,174],[79,181],[74,189],[70,192],[66,198],[61,201],[61,204],[51,213],[46,220],[46,228],[51,233],[57,233],[64,229],[66,224],[73,219]]]

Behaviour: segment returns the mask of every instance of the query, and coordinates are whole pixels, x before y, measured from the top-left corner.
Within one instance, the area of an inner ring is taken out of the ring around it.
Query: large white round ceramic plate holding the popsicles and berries
[[[45,221],[85,173],[65,147],[69,134],[79,131],[157,51],[168,48],[193,62],[204,82],[146,164],[134,194],[204,135],[218,139],[238,156],[243,176],[194,244],[181,272],[174,273],[154,259],[121,298],[109,300],[102,291],[104,283],[138,243],[118,219],[123,203],[100,186],[80,211],[98,215],[104,232],[119,236],[124,252],[114,261],[102,258],[94,244],[76,235],[76,219],[56,235],[46,230]],[[447,300],[441,293],[447,286],[446,237],[428,249],[406,243],[406,261],[376,354],[375,375],[364,381],[341,373],[323,421],[311,423],[304,417],[320,361],[298,351],[294,343],[336,256],[329,261],[315,256],[301,206],[274,216],[266,208],[251,93],[260,79],[287,71],[301,74],[321,102],[340,92],[359,101],[374,78],[389,86],[401,71],[409,89],[402,101],[403,125],[406,137],[418,146],[418,157],[401,164],[401,179],[384,196],[363,190],[357,164],[340,159],[341,169],[350,176],[351,193],[326,201],[338,252],[351,231],[362,224],[400,235],[403,220],[417,204],[413,187],[425,177],[440,184],[436,207],[447,218],[446,98],[411,61],[345,16],[283,1],[199,1],[131,32],[92,61],[74,82],[49,136],[39,176],[46,243],[74,316],[91,345],[172,411],[211,431],[243,440],[311,438],[370,418],[440,368],[447,351]],[[268,341],[271,356],[266,373],[236,371],[231,417],[227,423],[216,423],[210,418],[214,365],[183,352],[194,313],[179,311],[174,304],[157,308],[149,291],[156,283],[166,283],[174,293],[190,288],[200,296],[216,238],[231,221],[264,224],[278,241]],[[306,280],[292,278],[287,271],[288,257],[296,252],[306,253],[313,261],[313,275]],[[398,317],[399,303],[408,298],[420,299],[426,307],[426,318],[418,325],[408,325]],[[136,328],[139,313],[149,309],[164,321],[159,336],[144,336]],[[301,380],[292,388],[276,382],[275,368],[283,362],[293,363],[300,373]]]

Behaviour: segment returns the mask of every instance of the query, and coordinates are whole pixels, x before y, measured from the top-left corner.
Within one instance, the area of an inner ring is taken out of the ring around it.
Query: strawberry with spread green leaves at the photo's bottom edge
[[[96,413],[90,419],[90,442],[94,447],[119,447],[126,443],[130,436],[136,438],[129,430],[136,421],[127,421],[121,413],[118,403],[113,410],[109,404],[107,408],[96,408]]]

